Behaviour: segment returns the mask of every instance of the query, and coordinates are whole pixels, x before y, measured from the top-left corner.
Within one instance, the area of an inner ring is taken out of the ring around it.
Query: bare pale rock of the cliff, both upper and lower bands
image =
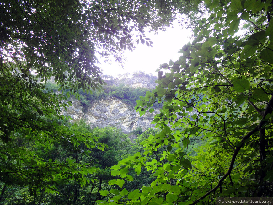
[[[148,75],[134,76],[133,78],[123,79],[111,79],[108,80],[108,84],[119,86],[120,84],[126,84],[133,88],[142,87],[147,89],[154,89],[156,84],[154,83],[156,77]],[[106,99],[96,100],[88,107],[88,110],[83,112],[81,102],[76,99],[72,99],[72,106],[67,108],[67,111],[63,111],[63,115],[71,116],[73,121],[84,119],[87,123],[90,123],[92,127],[107,127],[114,126],[120,128],[122,132],[128,134],[135,130],[137,127],[141,127],[142,130],[154,127],[151,122],[157,111],[153,114],[147,112],[143,116],[139,116],[139,113],[130,107],[126,103],[117,98],[107,97]]]

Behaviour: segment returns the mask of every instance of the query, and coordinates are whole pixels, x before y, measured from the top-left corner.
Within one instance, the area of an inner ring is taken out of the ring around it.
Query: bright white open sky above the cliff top
[[[169,63],[170,59],[176,61],[181,54],[178,51],[187,44],[190,39],[190,30],[180,29],[178,23],[174,23],[173,28],[168,28],[166,31],[158,31],[157,35],[154,32],[145,32],[146,37],[153,41],[153,48],[146,44],[136,44],[136,49],[131,52],[126,50],[124,57],[127,59],[124,69],[115,61],[112,64],[107,64],[101,61],[101,70],[103,75],[113,75],[125,73],[133,73],[135,71],[143,71],[144,73],[152,73],[157,76],[156,69],[160,64]]]

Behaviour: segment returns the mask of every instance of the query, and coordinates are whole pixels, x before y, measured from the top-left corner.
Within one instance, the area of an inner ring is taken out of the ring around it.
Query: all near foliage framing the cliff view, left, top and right
[[[60,182],[89,184],[86,175],[99,167],[75,158],[44,160],[29,144],[50,149],[61,143],[78,154],[107,148],[99,132],[53,120],[64,118],[59,114],[68,106],[66,97],[44,93],[32,72],[45,82],[55,76],[60,90],[76,97],[78,89],[100,89],[97,53],[120,59],[118,51],[133,49],[134,42],[151,46],[144,27],[164,30],[177,13],[185,13],[194,25],[194,40],[181,45],[179,59],[160,65],[158,86],[135,107],[143,115],[163,102],[153,120],[160,132],[142,136],[141,149],[112,167],[114,178],[105,186],[110,190],[98,188],[96,202],[180,205],[215,203],[216,197],[272,197],[272,1],[198,4],[0,3],[2,193],[10,185],[27,186],[35,202],[43,192],[59,193]],[[200,19],[201,8],[207,13]],[[138,40],[132,30],[140,32]],[[152,177],[139,187],[139,176],[145,174]],[[127,186],[128,181],[135,186]]]

